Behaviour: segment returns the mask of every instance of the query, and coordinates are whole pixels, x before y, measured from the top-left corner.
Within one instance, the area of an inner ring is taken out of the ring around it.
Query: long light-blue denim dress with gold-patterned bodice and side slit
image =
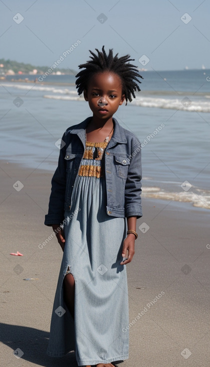
[[[75,350],[78,365],[128,358],[129,335],[126,265],[121,251],[125,218],[106,212],[102,143],[86,141],[86,150],[65,212],[65,249],[55,294],[47,353]],[[75,318],[63,300],[66,273],[75,279]]]

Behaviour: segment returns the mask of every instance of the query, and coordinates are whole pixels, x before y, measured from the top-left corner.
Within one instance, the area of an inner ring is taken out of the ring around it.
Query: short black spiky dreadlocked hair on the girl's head
[[[95,49],[98,52],[98,55],[89,50],[92,54],[92,56],[90,56],[92,60],[88,60],[87,63],[79,65],[80,69],[85,69],[78,72],[76,75],[76,88],[78,89],[78,94],[82,94],[84,89],[87,90],[88,82],[94,74],[111,71],[117,74],[122,81],[122,94],[125,94],[126,104],[128,100],[131,102],[131,94],[135,98],[134,91],[141,90],[136,81],[141,83],[138,78],[140,77],[143,79],[138,72],[137,66],[129,62],[133,61],[134,58],[129,58],[130,55],[128,54],[122,57],[117,57],[118,53],[113,56],[112,48],[109,49],[109,54],[107,55],[104,50],[104,46],[102,47],[102,52],[97,48]]]

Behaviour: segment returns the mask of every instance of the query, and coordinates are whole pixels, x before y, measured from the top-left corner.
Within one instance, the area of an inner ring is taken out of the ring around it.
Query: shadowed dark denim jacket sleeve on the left
[[[65,133],[62,137],[65,142]],[[66,144],[60,149],[58,167],[52,178],[52,188],[48,214],[45,215],[45,225],[60,224],[64,220],[64,202],[66,191]]]

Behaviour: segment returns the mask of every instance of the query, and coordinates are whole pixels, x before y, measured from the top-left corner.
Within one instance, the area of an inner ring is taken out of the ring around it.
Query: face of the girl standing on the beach
[[[84,97],[94,117],[103,120],[111,118],[125,100],[120,77],[112,71],[94,74],[88,83],[88,90],[84,90]]]

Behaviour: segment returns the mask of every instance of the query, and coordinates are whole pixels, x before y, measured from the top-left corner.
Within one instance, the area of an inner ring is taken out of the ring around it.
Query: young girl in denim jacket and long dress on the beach
[[[104,46],[76,77],[93,115],[63,135],[49,212],[63,252],[48,354],[75,350],[79,366],[113,367],[128,358],[126,264],[141,211],[141,145],[113,118],[140,90],[129,55]]]

